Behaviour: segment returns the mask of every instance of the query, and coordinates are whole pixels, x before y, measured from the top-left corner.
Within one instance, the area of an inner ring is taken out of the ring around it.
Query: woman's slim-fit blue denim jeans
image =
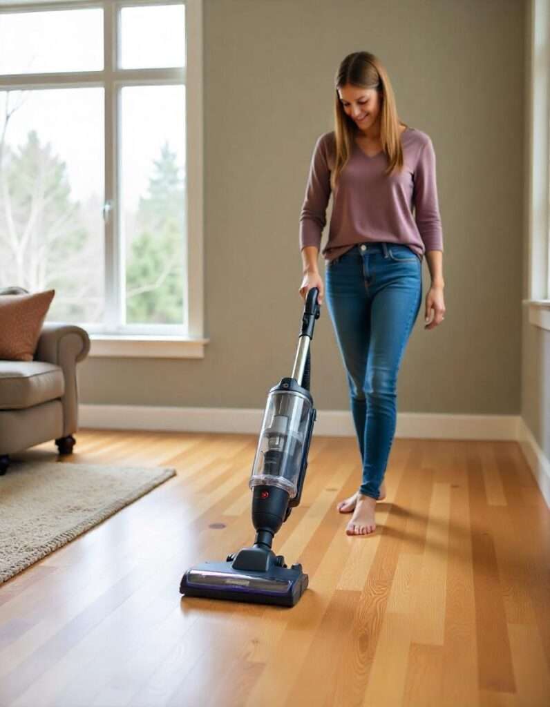
[[[359,490],[378,498],[396,428],[399,364],[422,303],[422,262],[407,245],[354,245],[326,264],[325,280],[361,452]]]

